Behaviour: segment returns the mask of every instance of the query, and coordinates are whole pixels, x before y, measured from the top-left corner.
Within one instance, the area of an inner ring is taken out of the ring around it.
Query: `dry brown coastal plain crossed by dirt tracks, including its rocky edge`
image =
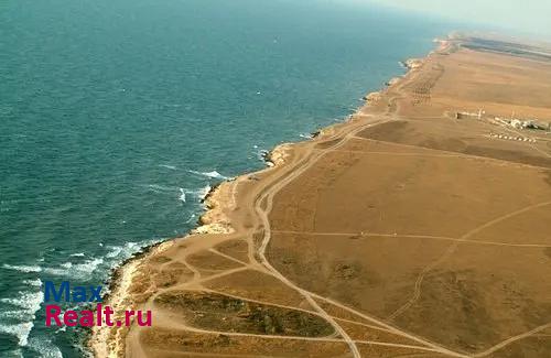
[[[107,303],[153,326],[95,327],[95,356],[548,357],[551,63],[465,44],[119,268]]]

